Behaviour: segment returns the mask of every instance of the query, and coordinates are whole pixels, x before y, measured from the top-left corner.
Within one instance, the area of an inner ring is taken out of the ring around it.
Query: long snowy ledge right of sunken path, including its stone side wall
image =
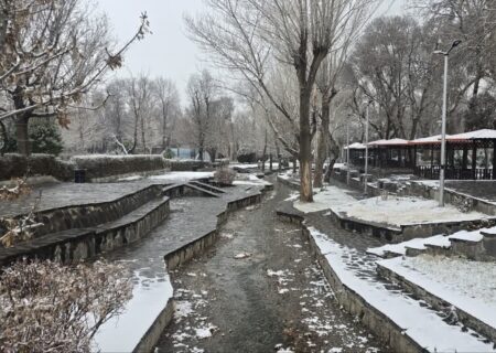
[[[357,276],[357,269],[349,265],[353,257],[364,254],[338,245],[311,226],[306,228],[341,303],[359,315],[381,339],[388,340],[391,349],[401,352],[496,352],[492,344],[475,338],[470,330],[463,332],[457,325],[446,324],[435,311],[422,307],[419,301],[388,290],[373,277]],[[385,332],[385,327],[390,329]]]

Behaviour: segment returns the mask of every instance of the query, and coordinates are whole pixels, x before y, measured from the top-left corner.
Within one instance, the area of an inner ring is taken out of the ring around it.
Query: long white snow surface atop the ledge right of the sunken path
[[[406,295],[388,290],[373,276],[364,276],[356,258],[364,255],[357,250],[338,245],[325,234],[308,227],[310,234],[328,263],[336,279],[349,293],[358,296],[371,308],[390,319],[402,334],[417,342],[428,352],[496,352],[492,344],[463,332],[459,325],[449,325],[434,311]],[[370,264],[368,264],[370,265]]]

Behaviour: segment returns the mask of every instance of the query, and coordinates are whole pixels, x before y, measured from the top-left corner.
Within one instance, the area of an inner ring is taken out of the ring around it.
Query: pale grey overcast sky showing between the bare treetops
[[[184,13],[195,14],[203,9],[203,0],[97,0],[107,12],[114,33],[121,42],[134,34],[139,15],[147,11],[153,34],[133,44],[125,56],[119,76],[148,73],[164,76],[177,84],[181,96],[187,79],[206,66],[203,54],[186,38]],[[385,0],[378,13],[402,12],[406,0]]]

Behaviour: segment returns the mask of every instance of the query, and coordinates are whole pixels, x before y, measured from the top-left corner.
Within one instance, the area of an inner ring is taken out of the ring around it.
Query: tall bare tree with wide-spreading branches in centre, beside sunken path
[[[193,39],[214,61],[237,71],[279,114],[292,120],[268,87],[274,64],[290,65],[299,85],[300,197],[312,201],[310,99],[322,61],[343,18],[370,1],[209,0],[211,12],[186,18]],[[346,22],[346,21],[344,21]],[[235,40],[234,40],[235,39]]]

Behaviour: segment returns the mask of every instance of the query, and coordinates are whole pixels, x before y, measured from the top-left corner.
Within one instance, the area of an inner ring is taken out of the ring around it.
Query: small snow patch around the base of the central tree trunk
[[[325,186],[323,189],[315,189],[314,191],[316,193],[313,195],[313,202],[296,201],[293,204],[294,207],[303,213],[309,213],[356,202],[355,197],[336,186]]]

